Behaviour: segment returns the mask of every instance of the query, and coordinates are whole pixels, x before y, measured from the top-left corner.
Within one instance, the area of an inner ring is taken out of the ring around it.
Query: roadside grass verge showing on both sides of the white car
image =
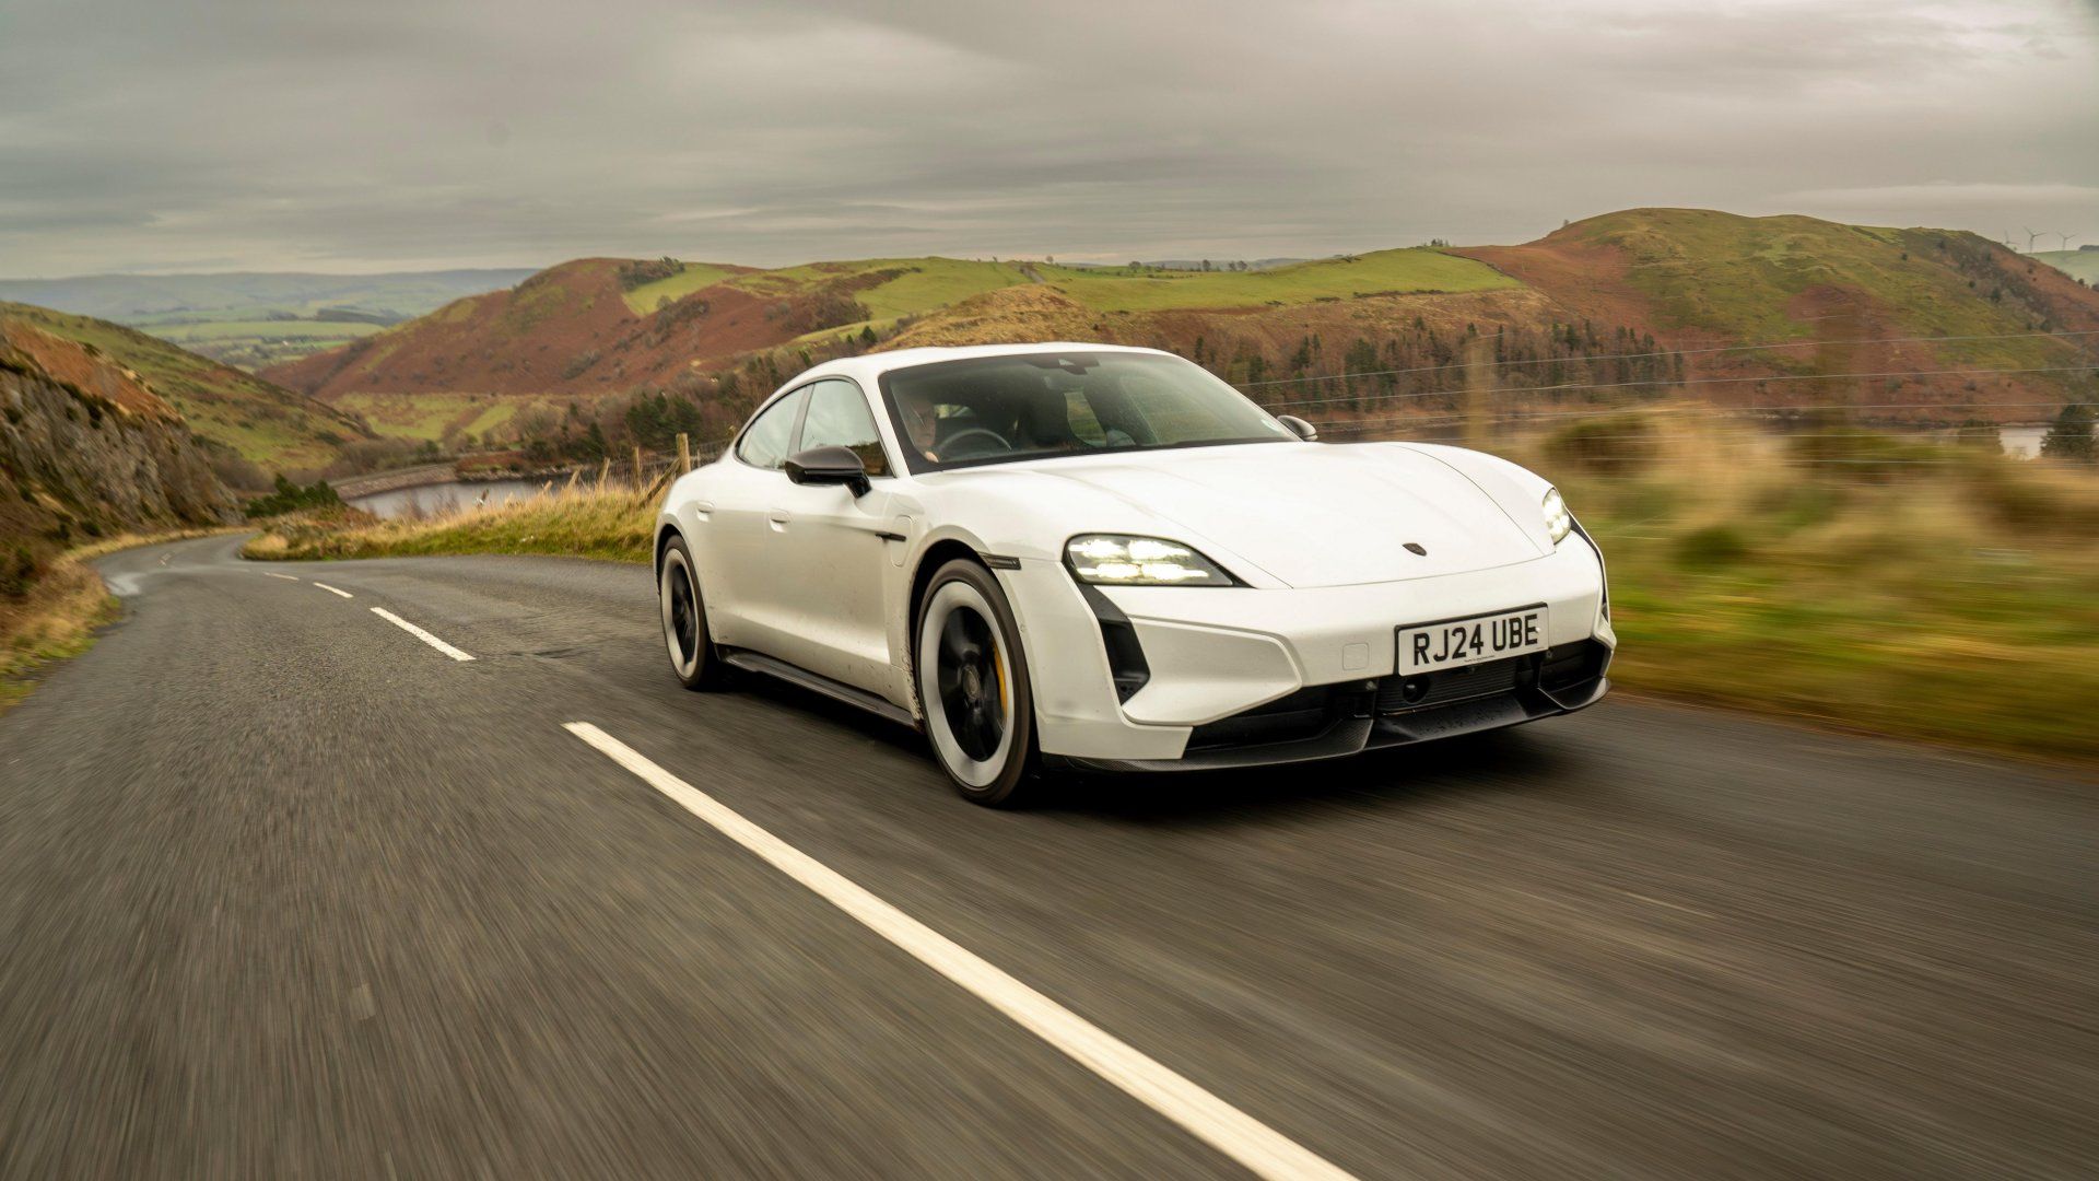
[[[2099,763],[2099,473],[1881,435],[1599,422],[1503,450],[1604,544],[1623,687]],[[632,492],[579,492],[285,523],[250,555],[649,561],[651,519]]]

